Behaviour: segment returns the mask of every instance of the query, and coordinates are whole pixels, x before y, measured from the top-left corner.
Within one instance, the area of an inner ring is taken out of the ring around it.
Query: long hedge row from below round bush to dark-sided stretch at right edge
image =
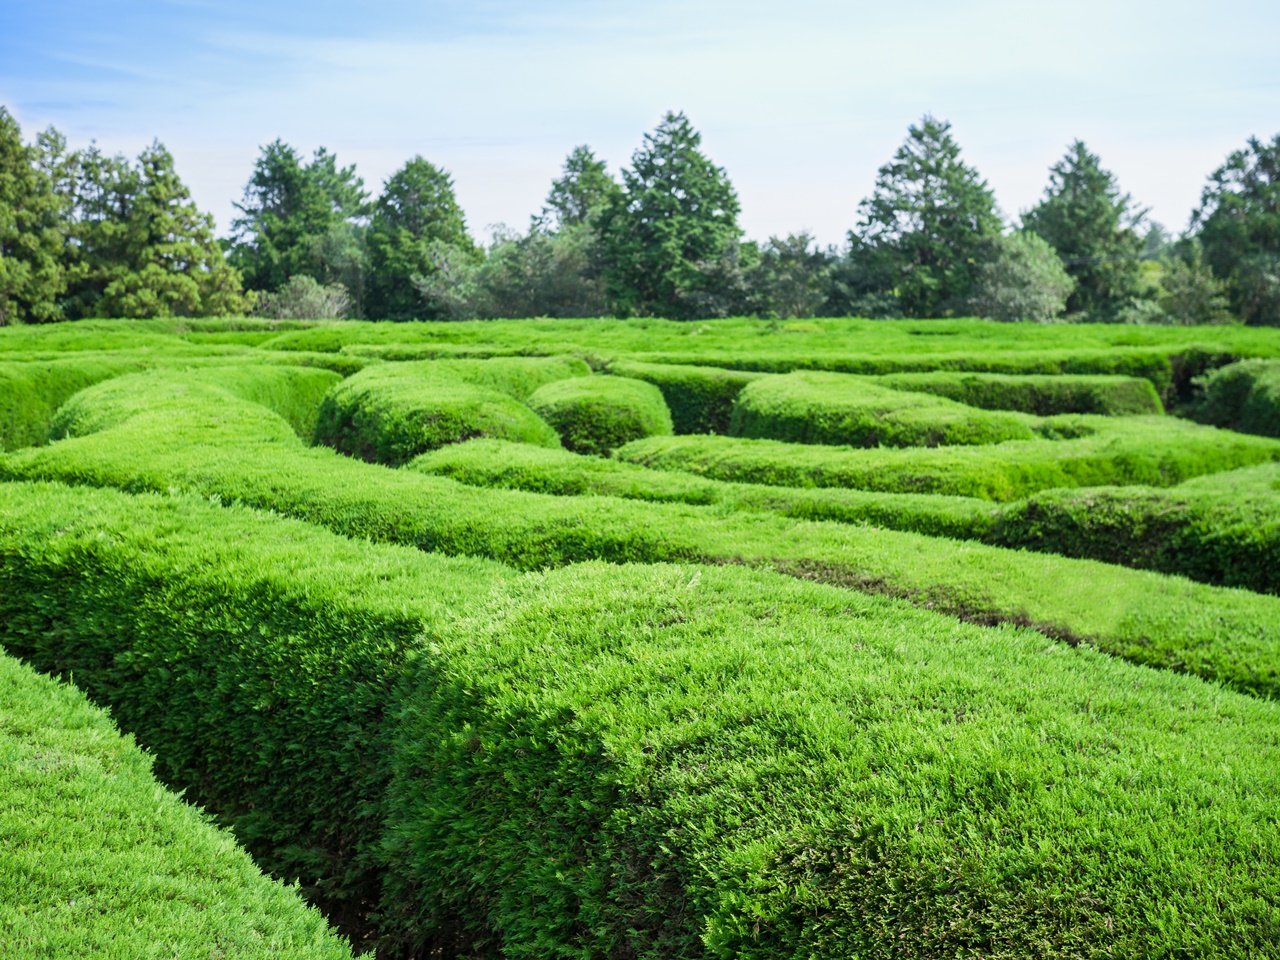
[[[872,524],[1280,593],[1276,463],[1210,474],[1165,489],[1047,490],[1007,504],[968,497],[732,484],[500,440],[447,447],[419,457],[408,468],[470,486],[717,504],[803,520]]]

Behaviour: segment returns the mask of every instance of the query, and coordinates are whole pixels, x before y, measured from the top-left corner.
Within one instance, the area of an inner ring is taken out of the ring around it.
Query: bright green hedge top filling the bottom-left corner
[[[351,957],[151,763],[83,694],[0,654],[0,956]]]

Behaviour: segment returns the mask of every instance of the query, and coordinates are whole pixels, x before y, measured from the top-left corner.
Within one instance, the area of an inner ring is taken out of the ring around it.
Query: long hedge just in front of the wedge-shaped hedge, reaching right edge
[[[732,436],[655,436],[616,452],[628,463],[773,486],[846,486],[1014,500],[1055,486],[1169,486],[1280,460],[1280,443],[1166,417],[1060,417],[1093,435],[987,447],[855,449]],[[1074,428],[1073,428],[1074,425]]]

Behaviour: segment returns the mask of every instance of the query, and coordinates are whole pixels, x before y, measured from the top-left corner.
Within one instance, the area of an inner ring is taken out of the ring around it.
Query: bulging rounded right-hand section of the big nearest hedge
[[[687,567],[518,582],[436,662],[394,876],[488,954],[1280,955],[1275,704]]]

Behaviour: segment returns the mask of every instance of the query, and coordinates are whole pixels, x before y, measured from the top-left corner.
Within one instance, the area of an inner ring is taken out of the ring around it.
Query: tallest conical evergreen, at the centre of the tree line
[[[622,172],[600,215],[613,308],[675,319],[741,308],[737,193],[699,148],[682,113],[668,113]]]

